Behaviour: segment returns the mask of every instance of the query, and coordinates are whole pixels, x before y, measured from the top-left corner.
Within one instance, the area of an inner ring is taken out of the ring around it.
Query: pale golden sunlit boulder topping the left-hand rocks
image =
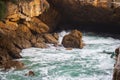
[[[31,17],[39,16],[45,9],[49,8],[46,0],[18,0],[15,3],[8,1],[6,18],[12,21],[26,19],[30,21]]]

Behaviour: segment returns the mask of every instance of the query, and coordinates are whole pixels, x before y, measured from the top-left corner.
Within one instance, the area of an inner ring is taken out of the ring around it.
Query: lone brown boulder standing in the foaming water
[[[71,31],[63,37],[62,44],[66,48],[83,48],[82,33],[78,30]]]

